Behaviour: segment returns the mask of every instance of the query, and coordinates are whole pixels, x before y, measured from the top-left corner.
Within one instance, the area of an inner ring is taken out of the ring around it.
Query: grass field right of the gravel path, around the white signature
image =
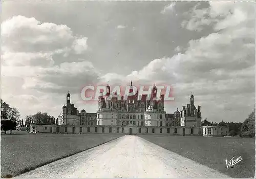
[[[140,137],[231,177],[254,177],[255,139],[194,136]],[[240,155],[243,161],[227,169],[225,160],[229,162],[233,156],[236,158]]]

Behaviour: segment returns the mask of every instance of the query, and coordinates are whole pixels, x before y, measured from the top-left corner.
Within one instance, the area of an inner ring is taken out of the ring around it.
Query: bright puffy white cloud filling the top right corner
[[[197,31],[209,25],[216,31],[237,25],[254,27],[255,2],[209,2],[204,9],[198,9],[199,6],[200,3],[184,13],[188,19],[182,22],[182,27]]]

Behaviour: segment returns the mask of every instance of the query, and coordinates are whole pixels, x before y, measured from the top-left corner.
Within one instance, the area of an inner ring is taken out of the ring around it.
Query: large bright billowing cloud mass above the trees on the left
[[[28,113],[28,108],[23,107],[25,103],[30,111],[44,110],[44,106],[56,105],[56,101],[50,100],[56,93],[61,95],[68,90],[79,93],[84,83],[97,80],[98,72],[90,62],[78,59],[63,62],[69,55],[82,55],[88,50],[88,38],[73,35],[66,25],[13,16],[1,24],[1,38],[3,99],[13,103],[22,113]],[[41,100],[36,96],[48,96],[49,99]]]

